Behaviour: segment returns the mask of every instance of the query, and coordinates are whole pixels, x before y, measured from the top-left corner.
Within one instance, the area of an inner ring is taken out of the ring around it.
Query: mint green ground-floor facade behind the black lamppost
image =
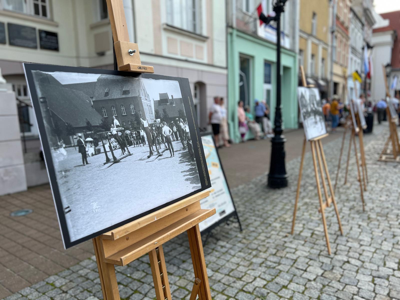
[[[270,106],[273,124],[276,105],[276,44],[255,34],[228,27],[228,124],[230,137],[240,141],[238,101],[254,114],[254,99]],[[285,129],[298,128],[298,59],[294,51],[281,48],[282,116]],[[252,138],[250,132],[246,138]]]

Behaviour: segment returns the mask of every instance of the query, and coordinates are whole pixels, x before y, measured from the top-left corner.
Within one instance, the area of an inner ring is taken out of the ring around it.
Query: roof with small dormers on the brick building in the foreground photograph
[[[93,101],[132,96],[150,98],[141,78],[101,75],[96,81]]]

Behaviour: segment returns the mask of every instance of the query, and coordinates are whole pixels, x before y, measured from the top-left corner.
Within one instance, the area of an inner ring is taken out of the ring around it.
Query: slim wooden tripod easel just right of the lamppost
[[[307,86],[306,76],[304,74],[303,66],[300,66],[300,72],[302,75],[303,86]],[[316,184],[317,184],[318,199],[320,201],[320,208],[318,209],[318,212],[320,212],[322,215],[322,224],[324,225],[326,246],[328,247],[328,253],[331,254],[330,242],[329,242],[329,236],[328,236],[328,227],[326,226],[326,218],[325,218],[325,209],[327,207],[329,207],[331,203],[333,203],[333,206],[335,208],[336,217],[338,218],[338,224],[339,224],[339,229],[340,229],[341,234],[343,234],[343,229],[342,229],[342,223],[340,222],[338,207],[337,207],[336,201],[335,201],[334,190],[332,188],[332,183],[330,181],[328,165],[326,164],[324,148],[322,148],[321,139],[325,138],[326,136],[328,136],[328,134],[324,134],[322,136],[319,136],[318,138],[311,139],[311,140],[309,140],[309,142],[311,145],[312,161],[314,163],[314,173],[315,173],[315,180],[316,180]],[[307,139],[304,136],[302,156],[301,156],[301,160],[300,160],[299,177],[298,177],[298,182],[297,182],[296,200],[294,202],[294,212],[293,212],[293,222],[292,222],[291,234],[294,233],[294,224],[296,222],[297,204],[298,204],[298,199],[299,199],[299,195],[300,195],[300,185],[301,185],[301,178],[302,178],[302,171],[303,171],[304,155],[306,153],[306,144],[307,144]],[[318,160],[318,166],[317,166],[317,160]],[[320,174],[318,173],[318,167],[320,169]],[[326,187],[324,172],[326,175],[326,179],[328,181],[330,197],[328,196],[328,189]],[[320,186],[320,175],[321,175],[322,186],[324,188],[324,194],[325,194],[325,198],[326,198],[325,202],[322,199],[322,192],[321,192],[321,186]]]

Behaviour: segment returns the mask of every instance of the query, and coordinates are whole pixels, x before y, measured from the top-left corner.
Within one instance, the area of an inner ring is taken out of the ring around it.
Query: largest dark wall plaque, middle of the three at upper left
[[[36,28],[8,23],[8,40],[12,46],[38,48]]]

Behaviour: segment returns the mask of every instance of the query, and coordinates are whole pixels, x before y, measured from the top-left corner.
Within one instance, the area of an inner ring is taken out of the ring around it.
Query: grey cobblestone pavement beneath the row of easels
[[[213,299],[400,299],[399,164],[378,162],[387,127],[365,136],[369,184],[362,211],[354,155],[348,185],[344,168],[336,191],[344,235],[326,209],[328,255],[310,153],[306,154],[294,236],[289,234],[300,158],[287,163],[290,186],[266,188],[260,176],[232,190],[244,230],[236,223],[213,230],[204,246]],[[345,144],[347,149],[348,139]],[[301,145],[299,153],[301,151]],[[324,146],[334,178],[340,144]],[[188,299],[194,275],[187,236],[164,245],[175,299]],[[94,257],[24,288],[6,299],[102,299]],[[116,267],[122,299],[155,297],[148,257]]]

